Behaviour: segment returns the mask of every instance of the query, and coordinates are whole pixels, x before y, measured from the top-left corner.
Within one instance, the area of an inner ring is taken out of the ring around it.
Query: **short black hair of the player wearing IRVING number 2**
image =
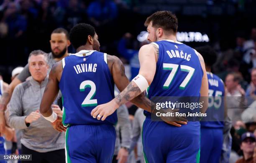
[[[70,42],[75,49],[87,43],[88,36],[95,35],[95,28],[90,24],[79,23],[70,30]]]

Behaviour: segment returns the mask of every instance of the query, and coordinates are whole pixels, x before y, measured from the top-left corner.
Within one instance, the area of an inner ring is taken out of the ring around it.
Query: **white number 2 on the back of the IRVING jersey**
[[[84,92],[85,88],[91,88],[90,92],[84,99],[82,107],[97,106],[97,99],[92,99],[96,93],[96,85],[91,80],[85,80],[80,84],[80,92]]]

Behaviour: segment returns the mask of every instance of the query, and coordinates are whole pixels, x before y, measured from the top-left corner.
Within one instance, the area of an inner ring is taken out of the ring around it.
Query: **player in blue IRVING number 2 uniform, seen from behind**
[[[95,106],[115,97],[114,84],[122,91],[129,80],[117,57],[99,52],[98,36],[91,25],[75,25],[70,31],[70,41],[77,53],[54,64],[40,112],[56,130],[65,131],[67,127],[67,163],[111,163],[117,114],[99,121],[90,113]],[[51,109],[59,89],[63,96],[63,117],[58,117]],[[150,110],[150,100],[143,94],[132,102]]]

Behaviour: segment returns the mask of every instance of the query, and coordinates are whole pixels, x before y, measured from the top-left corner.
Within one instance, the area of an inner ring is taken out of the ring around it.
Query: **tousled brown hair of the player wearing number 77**
[[[170,11],[158,11],[150,15],[146,21],[145,26],[147,27],[152,21],[152,27],[163,28],[166,32],[177,33],[178,30],[178,19]]]

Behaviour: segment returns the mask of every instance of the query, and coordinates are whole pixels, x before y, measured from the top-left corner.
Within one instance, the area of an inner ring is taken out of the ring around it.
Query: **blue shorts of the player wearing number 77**
[[[200,150],[200,123],[176,127],[146,118],[142,130],[146,163],[197,163]]]

